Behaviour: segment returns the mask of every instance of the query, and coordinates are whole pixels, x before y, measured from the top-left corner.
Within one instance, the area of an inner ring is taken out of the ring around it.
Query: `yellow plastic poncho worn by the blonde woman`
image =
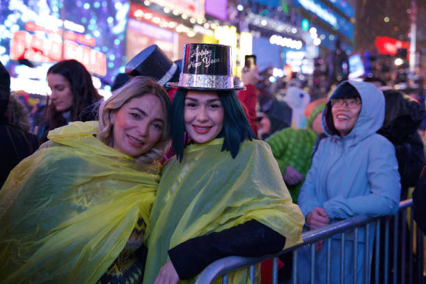
[[[97,122],[49,132],[0,190],[0,283],[96,283],[149,213],[147,172],[93,135]]]

